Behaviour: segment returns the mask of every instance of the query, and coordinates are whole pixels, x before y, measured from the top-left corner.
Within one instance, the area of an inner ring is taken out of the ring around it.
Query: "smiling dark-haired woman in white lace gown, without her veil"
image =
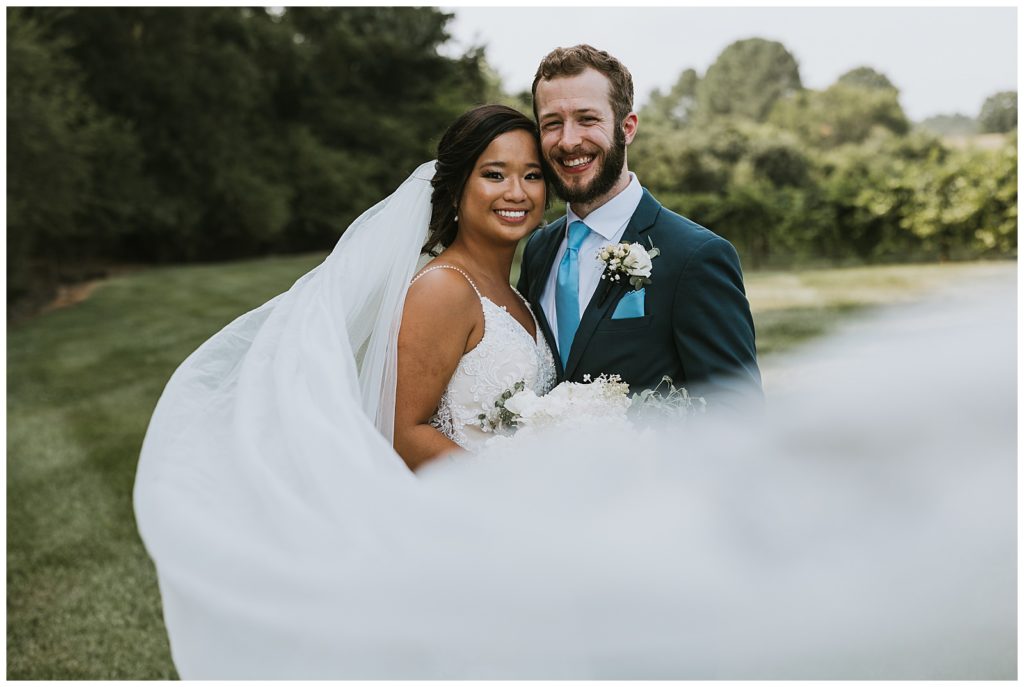
[[[551,350],[509,284],[516,245],[542,221],[547,194],[532,121],[503,105],[472,110],[437,146],[425,251],[398,334],[394,447],[413,469],[489,435],[477,417],[518,381],[555,383]]]

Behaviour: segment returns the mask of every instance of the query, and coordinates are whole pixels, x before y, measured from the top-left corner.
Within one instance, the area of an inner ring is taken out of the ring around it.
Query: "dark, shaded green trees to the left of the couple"
[[[321,250],[486,98],[435,8],[9,8],[8,301],[88,265]]]

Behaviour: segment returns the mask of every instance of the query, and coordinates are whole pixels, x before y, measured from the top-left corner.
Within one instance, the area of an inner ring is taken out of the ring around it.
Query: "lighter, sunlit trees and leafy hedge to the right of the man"
[[[782,44],[749,39],[655,91],[640,119],[631,168],[745,265],[1016,255],[1016,92],[978,118],[1001,136],[955,145],[912,125],[884,74],[805,88]]]

